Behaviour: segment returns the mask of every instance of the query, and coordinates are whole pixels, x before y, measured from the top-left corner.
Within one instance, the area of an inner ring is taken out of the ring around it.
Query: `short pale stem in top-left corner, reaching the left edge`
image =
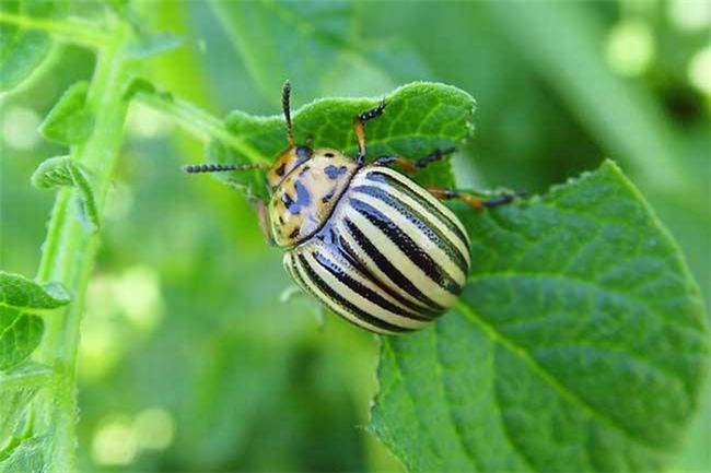
[[[96,49],[109,42],[109,35],[96,27],[95,24],[71,16],[42,19],[0,11],[0,23],[47,32],[58,40],[90,49]]]

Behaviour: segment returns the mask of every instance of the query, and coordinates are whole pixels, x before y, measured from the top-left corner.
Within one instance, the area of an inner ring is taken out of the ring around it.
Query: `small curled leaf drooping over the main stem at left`
[[[55,156],[45,159],[33,173],[31,181],[39,189],[61,186],[75,187],[79,191],[79,216],[90,228],[100,228],[93,187],[86,172],[70,156]]]

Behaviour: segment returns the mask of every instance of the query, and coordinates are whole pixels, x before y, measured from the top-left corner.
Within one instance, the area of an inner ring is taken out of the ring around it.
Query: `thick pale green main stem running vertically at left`
[[[113,29],[106,45],[98,51],[96,69],[89,91],[88,106],[94,113],[95,127],[91,138],[73,146],[71,158],[93,176],[97,209],[102,209],[109,188],[116,156],[123,142],[126,102],[121,90],[130,63],[123,57],[128,31],[123,25]],[[57,382],[53,392],[43,393],[38,418],[51,433],[49,472],[77,470],[75,448],[75,365],[83,298],[98,249],[98,235],[84,228],[75,214],[75,191],[59,191],[43,255],[37,271],[39,281],[57,281],[72,295],[72,304],[45,319],[45,338],[37,359],[54,368]]]

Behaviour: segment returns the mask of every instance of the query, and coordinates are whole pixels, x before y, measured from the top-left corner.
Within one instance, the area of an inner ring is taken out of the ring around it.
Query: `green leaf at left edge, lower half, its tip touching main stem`
[[[20,364],[39,344],[44,323],[37,311],[67,304],[69,296],[58,284],[0,272],[0,370]]]

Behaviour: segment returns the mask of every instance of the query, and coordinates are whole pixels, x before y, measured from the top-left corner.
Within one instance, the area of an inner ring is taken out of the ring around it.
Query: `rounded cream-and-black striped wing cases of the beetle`
[[[287,251],[305,291],[368,330],[416,330],[446,310],[469,269],[458,218],[427,190],[386,167],[353,177],[327,225]]]

